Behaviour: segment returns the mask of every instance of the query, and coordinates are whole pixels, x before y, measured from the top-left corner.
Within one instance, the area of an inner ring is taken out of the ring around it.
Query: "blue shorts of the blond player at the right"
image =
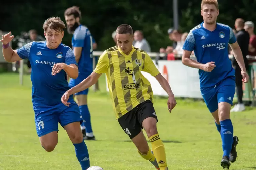
[[[232,106],[235,88],[235,77],[227,77],[215,86],[201,88],[201,94],[209,111],[215,112],[220,102],[227,102]]]

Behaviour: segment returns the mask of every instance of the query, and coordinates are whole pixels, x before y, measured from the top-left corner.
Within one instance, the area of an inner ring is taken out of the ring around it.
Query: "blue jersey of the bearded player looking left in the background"
[[[82,47],[81,57],[78,61],[79,73],[90,74],[93,71],[93,39],[89,29],[86,26],[79,25],[74,31],[72,37],[73,47]]]

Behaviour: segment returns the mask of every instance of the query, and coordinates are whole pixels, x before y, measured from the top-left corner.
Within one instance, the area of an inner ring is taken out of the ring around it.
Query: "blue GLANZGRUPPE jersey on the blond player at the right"
[[[199,70],[200,87],[215,86],[225,78],[234,76],[231,60],[228,58],[228,44],[236,42],[233,30],[217,23],[214,31],[203,27],[203,22],[190,30],[183,49],[194,51],[197,61],[202,64],[214,61],[216,67],[211,72]]]

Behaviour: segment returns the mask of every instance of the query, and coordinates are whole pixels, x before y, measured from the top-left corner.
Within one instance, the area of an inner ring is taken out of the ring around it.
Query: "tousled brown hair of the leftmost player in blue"
[[[47,20],[45,20],[43,29],[46,31],[48,29],[53,29],[55,31],[63,31],[64,28],[66,28],[64,22],[59,17],[50,17]]]

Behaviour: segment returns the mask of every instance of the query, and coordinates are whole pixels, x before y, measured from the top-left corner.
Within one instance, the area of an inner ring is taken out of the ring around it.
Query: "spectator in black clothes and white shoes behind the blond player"
[[[249,46],[249,34],[244,30],[244,20],[241,18],[237,18],[235,21],[235,28],[236,28],[236,39],[237,43],[241,48],[244,64],[246,67],[246,70],[248,70],[248,46]],[[235,69],[235,76],[236,76],[236,94],[238,98],[238,104],[234,106],[233,109],[231,109],[232,112],[240,112],[245,110],[245,106],[243,104],[243,83],[242,83],[242,75],[241,75],[241,69],[235,59],[233,59],[233,66]]]

